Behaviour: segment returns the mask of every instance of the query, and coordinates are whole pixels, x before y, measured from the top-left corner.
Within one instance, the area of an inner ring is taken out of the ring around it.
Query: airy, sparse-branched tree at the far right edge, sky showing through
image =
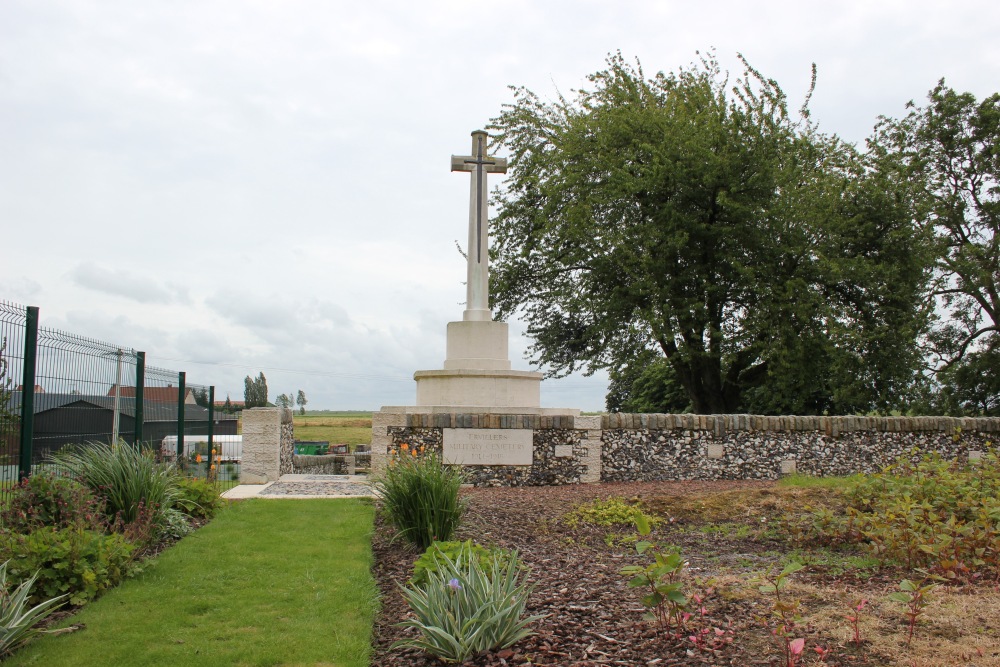
[[[914,217],[938,244],[932,365],[945,371],[980,353],[969,369],[1000,346],[1000,94],[977,101],[942,79],[927,100],[884,118],[871,148],[911,186]]]

